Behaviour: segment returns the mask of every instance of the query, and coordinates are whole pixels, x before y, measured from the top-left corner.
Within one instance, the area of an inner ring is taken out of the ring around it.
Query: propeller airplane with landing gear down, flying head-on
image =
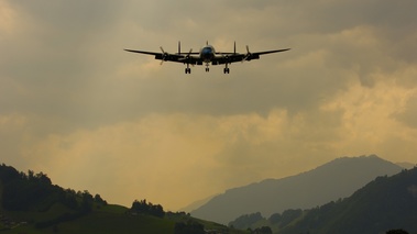
[[[194,53],[193,48],[189,49],[189,52],[182,52],[180,51],[180,42],[178,42],[178,53],[169,54],[164,51],[164,48],[161,46],[161,52],[144,52],[144,51],[135,51],[135,49],[127,49],[127,52],[131,53],[139,53],[139,54],[145,54],[145,55],[153,55],[155,56],[155,59],[161,60],[161,65],[164,62],[176,62],[176,63],[183,63],[187,65],[185,68],[185,74],[190,74],[191,68],[189,68],[189,65],[206,65],[206,73],[210,70],[209,65],[224,65],[223,73],[230,74],[229,64],[237,63],[237,62],[249,62],[252,59],[259,59],[261,55],[272,54],[272,53],[278,53],[278,52],[286,52],[290,48],[282,48],[282,49],[275,49],[275,51],[266,51],[266,52],[254,52],[251,53],[249,51],[249,46],[246,45],[246,53],[241,54],[237,53],[235,49],[235,42],[234,42],[234,49],[232,53],[221,53],[216,52],[215,47],[209,45],[208,42],[206,42],[206,46],[204,46],[199,53]]]

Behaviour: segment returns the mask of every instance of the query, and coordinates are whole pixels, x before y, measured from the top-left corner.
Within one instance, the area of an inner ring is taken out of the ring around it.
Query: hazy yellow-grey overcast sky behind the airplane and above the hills
[[[167,210],[341,156],[417,163],[415,0],[0,0],[0,163]],[[205,73],[123,48],[290,47]]]

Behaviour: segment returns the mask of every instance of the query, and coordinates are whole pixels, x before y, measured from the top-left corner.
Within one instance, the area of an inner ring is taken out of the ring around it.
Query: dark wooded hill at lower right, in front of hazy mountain
[[[417,168],[377,177],[351,197],[304,211],[286,225],[276,221],[278,234],[417,233]]]

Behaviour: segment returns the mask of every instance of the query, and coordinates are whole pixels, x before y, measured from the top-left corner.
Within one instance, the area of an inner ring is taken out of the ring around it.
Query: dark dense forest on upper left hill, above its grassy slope
[[[92,197],[88,191],[63,189],[52,185],[43,172],[20,172],[13,167],[0,166],[1,210],[14,214],[18,220],[33,223],[36,227],[52,226],[75,220],[91,212],[94,208],[107,205],[99,194]],[[37,213],[29,218],[25,213]],[[41,215],[42,214],[42,215]],[[2,214],[6,215],[6,214]]]

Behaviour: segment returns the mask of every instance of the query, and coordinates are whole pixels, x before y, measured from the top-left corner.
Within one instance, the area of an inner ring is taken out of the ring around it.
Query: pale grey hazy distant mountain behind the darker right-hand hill
[[[227,224],[241,214],[261,212],[270,216],[292,208],[309,209],[349,197],[377,176],[400,170],[375,155],[342,157],[296,176],[227,190],[191,215]]]

